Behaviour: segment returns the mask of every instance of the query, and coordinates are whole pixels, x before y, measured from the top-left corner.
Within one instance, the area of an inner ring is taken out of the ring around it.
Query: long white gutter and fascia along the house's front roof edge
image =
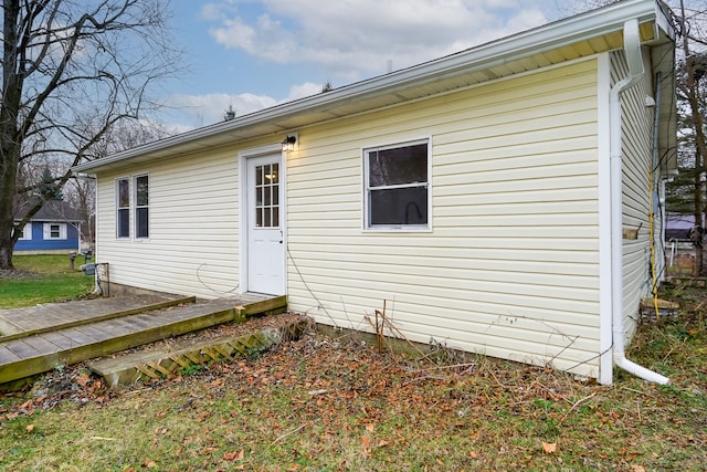
[[[357,82],[341,88],[276,105],[258,112],[218,123],[161,140],[148,143],[133,149],[80,164],[72,168],[74,172],[91,171],[94,168],[127,160],[152,151],[178,147],[201,138],[215,136],[241,127],[267,123],[274,118],[284,118],[316,108],[330,108],[337,103],[355,101],[358,97],[390,93],[395,88],[405,88],[411,84],[424,84],[461,71],[483,70],[504,64],[524,56],[539,54],[603,34],[622,31],[627,19],[637,19],[639,23],[656,21],[666,33],[672,28],[655,0],[626,0],[612,6],[592,10],[553,23],[535,28],[479,46],[440,57],[401,71]]]

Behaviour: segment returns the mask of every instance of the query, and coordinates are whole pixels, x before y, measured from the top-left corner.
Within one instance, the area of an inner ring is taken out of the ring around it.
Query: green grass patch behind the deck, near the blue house
[[[0,310],[71,300],[93,291],[93,277],[78,271],[82,256],[73,271],[67,254],[15,255],[12,262],[22,276],[0,276]],[[27,276],[25,272],[36,276]]]

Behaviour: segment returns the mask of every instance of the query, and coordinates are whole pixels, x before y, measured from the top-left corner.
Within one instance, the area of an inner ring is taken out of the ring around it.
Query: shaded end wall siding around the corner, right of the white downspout
[[[621,96],[622,102],[622,153],[623,153],[623,228],[637,229],[636,240],[623,242],[624,326],[629,337],[633,336],[639,316],[639,304],[652,293],[651,276],[651,221],[653,197],[650,192],[650,172],[653,159],[653,117],[655,107],[645,106],[645,97],[654,96],[651,66],[645,64],[644,77]],[[623,51],[611,54],[612,83],[629,74]],[[658,167],[659,171],[659,167]],[[657,176],[659,177],[659,176]],[[659,179],[656,178],[656,182]],[[659,186],[654,186],[657,192]],[[657,209],[656,209],[657,211]],[[659,214],[654,222],[656,237],[657,270],[663,265]],[[659,272],[657,273],[659,275]]]

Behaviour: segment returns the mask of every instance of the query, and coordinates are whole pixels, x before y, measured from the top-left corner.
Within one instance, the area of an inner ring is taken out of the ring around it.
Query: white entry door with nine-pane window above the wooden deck
[[[247,159],[247,291],[285,294],[282,155]]]

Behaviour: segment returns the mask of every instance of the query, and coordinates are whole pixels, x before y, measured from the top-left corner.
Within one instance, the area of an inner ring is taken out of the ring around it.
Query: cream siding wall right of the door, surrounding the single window
[[[299,130],[289,307],[597,376],[597,61]],[[362,149],[431,138],[432,231],[362,230]]]

